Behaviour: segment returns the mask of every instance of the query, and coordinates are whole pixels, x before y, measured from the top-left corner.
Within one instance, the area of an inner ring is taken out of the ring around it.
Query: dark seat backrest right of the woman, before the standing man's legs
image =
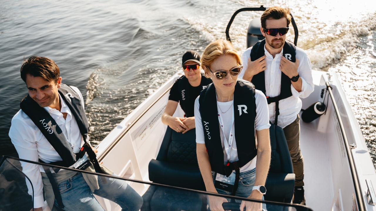
[[[291,161],[290,151],[283,129],[271,124],[270,146],[271,161],[269,172],[275,173],[293,173],[293,162]]]

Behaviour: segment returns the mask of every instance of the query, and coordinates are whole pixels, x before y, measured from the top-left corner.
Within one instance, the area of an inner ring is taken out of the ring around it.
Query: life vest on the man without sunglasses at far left
[[[84,148],[89,155],[89,160],[94,165],[97,172],[102,173],[99,167],[99,163],[96,159],[95,153],[92,151],[89,144],[86,142],[88,136],[89,123],[86,118],[85,110],[83,109],[80,96],[67,84],[61,84],[58,89],[61,98],[69,107],[71,113],[76,119],[80,133],[85,142]],[[59,125],[55,119],[42,107],[40,107],[29,95],[27,95],[20,104],[22,111],[29,116],[34,124],[39,128],[44,137],[49,141],[52,147],[58,152],[62,161],[52,162],[50,164],[69,167],[76,163],[76,161],[82,157],[84,152],[82,151],[80,156],[73,153],[73,149],[68,143],[67,138],[64,136]]]

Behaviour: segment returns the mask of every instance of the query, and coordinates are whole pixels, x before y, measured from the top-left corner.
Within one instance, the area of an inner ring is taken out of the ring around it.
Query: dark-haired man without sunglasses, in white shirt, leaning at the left
[[[111,173],[96,163],[96,150],[93,151],[89,145],[88,121],[81,92],[77,87],[61,83],[62,77],[56,63],[45,57],[30,57],[21,67],[21,78],[26,83],[29,95],[21,102],[21,110],[13,117],[9,130],[9,137],[19,157],[91,172],[95,169],[100,173]],[[32,191],[31,185],[26,182],[29,194],[34,192],[35,211],[41,211],[45,206],[44,198],[52,210],[103,211],[92,193],[116,201],[123,211],[139,210],[142,205],[141,196],[122,180],[93,177],[26,162],[21,162],[21,165],[34,188]]]

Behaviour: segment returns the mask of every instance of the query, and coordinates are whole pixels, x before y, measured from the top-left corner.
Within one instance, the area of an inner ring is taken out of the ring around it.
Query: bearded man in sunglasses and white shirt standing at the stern
[[[251,81],[268,99],[271,123],[284,129],[296,175],[294,203],[305,204],[303,156],[299,146],[300,98],[314,90],[311,62],[307,54],[286,40],[291,22],[290,9],[272,7],[261,16],[265,39],[242,55],[240,78]]]

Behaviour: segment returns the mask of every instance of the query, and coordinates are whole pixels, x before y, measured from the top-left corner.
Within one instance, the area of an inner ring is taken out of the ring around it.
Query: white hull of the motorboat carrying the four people
[[[330,79],[327,79],[327,75]],[[365,192],[368,190],[365,179],[375,181],[376,173],[358,122],[346,99],[340,81],[335,73],[313,71],[315,91],[302,99],[303,109],[314,102],[322,101],[321,89],[329,80],[340,110],[349,144],[354,143],[352,155],[366,210],[376,210],[367,203]],[[148,165],[155,159],[161,145],[166,125],[161,122],[161,115],[168,100],[168,92],[179,77],[175,74],[155,93],[150,95],[127,118],[99,144],[99,160],[117,175],[149,181]],[[329,97],[329,96],[328,96]],[[178,106],[174,116],[183,116]],[[358,210],[353,178],[343,136],[338,124],[334,107],[329,99],[326,115],[311,123],[300,122],[300,148],[304,158],[306,204],[313,210]],[[131,184],[143,194],[149,185]],[[115,206],[114,203],[99,199],[102,205]],[[111,210],[113,210],[111,208]],[[110,210],[110,209],[108,209]]]

